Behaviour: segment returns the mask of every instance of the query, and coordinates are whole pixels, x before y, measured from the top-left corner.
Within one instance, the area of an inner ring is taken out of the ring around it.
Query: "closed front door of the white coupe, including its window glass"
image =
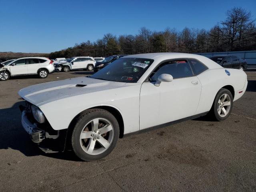
[[[171,82],[154,82],[161,74],[171,74]],[[202,85],[193,75],[187,60],[161,64],[144,82],[140,91],[140,129],[193,116],[196,112]]]

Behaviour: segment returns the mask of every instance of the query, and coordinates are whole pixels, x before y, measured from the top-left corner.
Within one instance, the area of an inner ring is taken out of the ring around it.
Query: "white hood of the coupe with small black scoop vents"
[[[41,106],[42,104],[66,97],[132,86],[134,84],[136,83],[78,77],[29,86],[21,89],[18,94],[28,102]]]

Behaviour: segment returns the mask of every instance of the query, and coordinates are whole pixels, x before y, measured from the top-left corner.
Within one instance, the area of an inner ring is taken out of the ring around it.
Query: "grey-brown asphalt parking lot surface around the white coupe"
[[[256,71],[246,73],[246,93],[227,120],[198,118],[128,136],[94,162],[41,152],[18,108],[21,88],[92,72],[0,82],[0,191],[256,191]]]

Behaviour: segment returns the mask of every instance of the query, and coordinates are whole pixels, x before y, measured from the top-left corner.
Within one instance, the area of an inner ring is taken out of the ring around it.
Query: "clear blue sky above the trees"
[[[0,0],[0,52],[50,53],[142,26],[210,29],[234,6],[256,18],[256,0]]]

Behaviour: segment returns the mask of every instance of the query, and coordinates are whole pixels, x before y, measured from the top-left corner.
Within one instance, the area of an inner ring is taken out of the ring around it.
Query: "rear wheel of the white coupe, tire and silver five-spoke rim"
[[[233,96],[227,89],[221,88],[217,93],[210,114],[214,120],[223,121],[230,115],[233,108]]]

